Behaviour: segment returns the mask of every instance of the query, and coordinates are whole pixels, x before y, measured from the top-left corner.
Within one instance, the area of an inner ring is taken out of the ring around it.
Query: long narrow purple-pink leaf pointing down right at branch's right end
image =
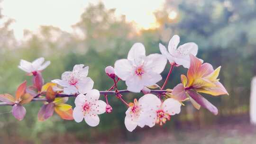
[[[189,90],[187,92],[190,95],[190,97],[194,99],[202,107],[208,109],[214,115],[218,114],[218,109],[214,105],[212,105],[207,99],[203,98],[199,93],[193,90]]]

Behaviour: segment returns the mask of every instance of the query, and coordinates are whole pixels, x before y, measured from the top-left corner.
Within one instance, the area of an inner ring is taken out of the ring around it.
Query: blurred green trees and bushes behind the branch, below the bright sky
[[[168,18],[168,10],[178,12],[176,19]],[[195,111],[189,103],[182,108],[179,116],[172,118],[168,126],[176,128],[186,121],[205,126],[221,120],[222,117],[248,113],[251,78],[256,74],[256,0],[167,0],[165,8],[155,12],[160,24],[156,29],[141,30],[139,33],[125,17],[117,18],[114,9],[105,9],[103,4],[90,5],[81,15],[81,20],[73,26],[76,33],[70,34],[58,27],[42,26],[39,33],[26,31],[26,41],[17,42],[9,29],[11,20],[2,22],[0,27],[0,93],[13,94],[17,86],[31,77],[18,69],[20,59],[32,61],[45,57],[51,65],[43,72],[46,82],[60,78],[62,72],[72,71],[74,64],[83,63],[90,67],[89,76],[94,80],[94,88],[106,90],[112,81],[104,68],[116,60],[125,58],[135,42],[146,47],[147,54],[160,53],[158,44],[167,45],[174,34],[181,36],[181,44],[195,42],[199,45],[198,57],[211,63],[214,68],[221,65],[220,81],[230,96],[208,97],[219,108],[219,115],[201,109]],[[162,73],[165,78],[169,66]],[[173,88],[180,82],[180,74],[186,69],[178,67],[168,82]],[[31,82],[30,82],[31,84]],[[159,82],[163,84],[163,81]],[[120,89],[126,89],[124,82]],[[142,94],[136,94],[140,97]],[[126,94],[132,101],[134,94]],[[69,103],[73,105],[70,98]],[[25,107],[27,115],[18,122],[11,114],[0,114],[0,140],[20,136],[20,140],[44,143],[54,137],[63,136],[78,140],[92,141],[97,135],[110,135],[136,140],[136,134],[128,133],[124,126],[126,107],[118,99],[110,96],[113,113],[101,115],[97,127],[85,123],[64,121],[58,116],[45,122],[37,121],[37,112],[42,105],[32,102]],[[1,107],[0,113],[10,111]],[[56,138],[56,140],[58,140]],[[18,141],[19,139],[17,139]],[[113,141],[115,141],[113,139]],[[15,142],[15,140],[14,140]]]

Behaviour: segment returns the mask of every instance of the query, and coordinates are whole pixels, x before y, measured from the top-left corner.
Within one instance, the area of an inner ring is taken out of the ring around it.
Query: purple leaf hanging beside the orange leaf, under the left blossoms
[[[54,103],[48,103],[46,105],[43,105],[38,112],[38,120],[45,121],[49,117],[52,117],[54,113],[54,107]]]

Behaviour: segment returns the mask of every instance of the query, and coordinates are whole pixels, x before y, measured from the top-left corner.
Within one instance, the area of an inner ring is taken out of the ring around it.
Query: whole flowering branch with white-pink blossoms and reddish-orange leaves
[[[89,126],[98,126],[98,115],[112,112],[108,95],[114,94],[128,108],[124,118],[128,131],[133,131],[137,126],[162,126],[172,116],[179,114],[183,102],[188,100],[195,108],[203,107],[217,115],[218,109],[200,93],[213,96],[228,95],[218,79],[220,67],[214,70],[210,63],[203,63],[203,60],[197,58],[198,46],[195,43],[178,46],[179,42],[180,37],[175,35],[168,44],[168,51],[164,45],[159,44],[161,54],[149,55],[146,55],[143,44],[132,45],[127,59],[117,60],[114,67],[105,68],[107,76],[114,82],[107,91],[93,89],[94,82],[87,77],[89,67],[84,64],[74,65],[72,72],[64,72],[61,79],[45,84],[41,72],[50,62],[44,63],[44,58],[38,58],[32,63],[21,60],[18,68],[33,76],[33,85],[27,86],[27,82],[24,81],[18,87],[15,97],[1,94],[0,100],[12,106],[12,114],[18,120],[22,120],[26,115],[23,105],[33,100],[44,101],[38,112],[39,121],[48,119],[55,112],[66,120],[79,123],[84,119]],[[171,68],[163,86],[160,87],[157,83],[163,79],[161,73],[167,63]],[[187,76],[181,75],[181,83],[174,89],[165,89],[173,68],[178,66],[188,69]],[[125,81],[127,90],[118,89],[119,81]],[[125,92],[143,92],[144,95],[127,103],[123,99]],[[105,96],[105,101],[100,100],[101,95]],[[75,97],[75,108],[65,104],[69,97]]]

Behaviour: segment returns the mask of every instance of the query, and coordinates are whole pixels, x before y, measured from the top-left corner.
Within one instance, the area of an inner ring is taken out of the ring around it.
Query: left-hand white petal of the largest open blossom
[[[115,74],[123,81],[126,81],[129,76],[135,74],[135,70],[133,69],[132,63],[127,59],[121,59],[116,61],[114,67]]]

